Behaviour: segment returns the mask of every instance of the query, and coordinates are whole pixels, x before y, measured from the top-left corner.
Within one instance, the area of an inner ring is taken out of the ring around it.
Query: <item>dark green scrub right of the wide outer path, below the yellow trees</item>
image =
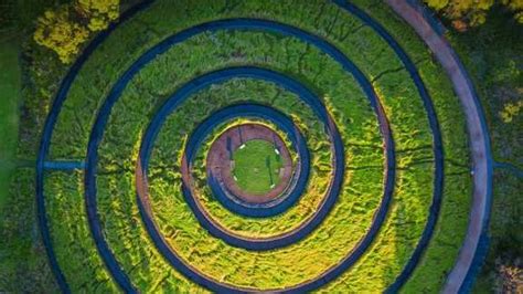
[[[501,117],[506,104],[523,98],[523,30],[521,25],[513,25],[505,11],[495,9],[480,28],[452,33],[450,39],[482,102],[495,160],[523,168],[523,115],[515,116],[510,123]]]

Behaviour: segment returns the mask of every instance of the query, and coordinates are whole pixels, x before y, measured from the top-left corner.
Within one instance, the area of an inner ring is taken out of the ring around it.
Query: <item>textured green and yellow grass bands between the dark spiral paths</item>
[[[416,62],[440,123],[446,156],[441,214],[430,245],[405,288],[417,293],[435,291],[452,266],[467,224],[471,183],[465,122],[449,81],[415,33],[381,2],[355,2],[383,23]],[[58,116],[50,158],[85,157],[95,114],[115,82],[145,51],[201,22],[247,17],[288,23],[325,39],[362,70],[384,106],[397,151],[391,210],[364,256],[324,287],[334,292],[383,291],[407,263],[426,224],[434,193],[433,134],[419,94],[388,44],[371,28],[327,1],[156,1],[113,32],[79,71]],[[135,168],[141,137],[150,118],[180,86],[202,73],[236,65],[256,65],[291,75],[320,97],[339,127],[345,148],[343,190],[319,229],[288,248],[252,252],[211,237],[184,201],[179,170],[188,134],[210,114],[235,102],[269,105],[292,118],[312,156],[311,178],[299,203],[280,216],[253,220],[232,213],[213,198],[205,188],[204,153],[199,153],[198,200],[234,234],[269,238],[310,219],[329,187],[332,151],[324,126],[313,112],[296,95],[271,83],[235,78],[202,90],[181,103],[166,120],[154,143],[149,170],[156,221],[183,261],[224,283],[259,290],[292,286],[318,277],[350,254],[380,206],[385,167],[383,141],[375,114],[350,74],[320,50],[296,38],[245,30],[203,33],[158,55],[131,80],[114,105],[98,150],[97,201],[104,234],[124,272],[142,292],[203,290],[168,264],[140,221]],[[203,150],[209,148],[209,141]],[[72,290],[115,291],[88,231],[83,174],[46,172],[45,193],[58,263]]]

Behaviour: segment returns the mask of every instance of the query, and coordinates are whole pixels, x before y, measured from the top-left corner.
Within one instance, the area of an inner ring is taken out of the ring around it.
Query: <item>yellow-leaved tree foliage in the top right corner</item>
[[[458,31],[483,23],[489,9],[497,3],[514,11],[514,18],[523,23],[523,0],[425,0],[425,2],[449,18]]]

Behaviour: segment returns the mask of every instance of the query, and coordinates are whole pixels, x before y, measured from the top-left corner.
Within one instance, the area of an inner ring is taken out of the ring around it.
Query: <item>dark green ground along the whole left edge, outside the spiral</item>
[[[28,57],[38,51],[28,45],[32,21],[52,2],[0,4],[0,292],[57,291],[36,224],[32,159],[49,102],[39,82],[52,80],[56,88],[60,74],[45,57]],[[38,70],[45,75],[33,76]]]

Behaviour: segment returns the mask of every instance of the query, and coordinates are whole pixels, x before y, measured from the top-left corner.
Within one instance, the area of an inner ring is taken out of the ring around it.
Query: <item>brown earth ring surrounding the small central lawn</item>
[[[284,162],[280,169],[279,183],[267,193],[248,193],[233,178],[231,153],[237,150],[248,140],[262,139],[273,143],[279,150]],[[207,177],[214,177],[226,191],[248,203],[265,203],[278,198],[289,186],[292,177],[292,160],[280,136],[262,124],[243,124],[225,130],[212,144],[206,158]]]

